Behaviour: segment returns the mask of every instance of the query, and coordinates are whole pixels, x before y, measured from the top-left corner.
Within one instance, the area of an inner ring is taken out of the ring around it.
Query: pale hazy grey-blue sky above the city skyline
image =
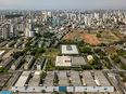
[[[126,0],[0,0],[0,10],[126,10]]]

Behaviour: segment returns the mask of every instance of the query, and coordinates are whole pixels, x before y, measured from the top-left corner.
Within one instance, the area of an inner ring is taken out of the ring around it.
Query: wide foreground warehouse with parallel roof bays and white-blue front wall
[[[58,76],[56,86],[53,83]],[[98,71],[47,71],[41,80],[40,71],[23,71],[20,79],[12,86],[13,92],[114,92],[104,73]],[[43,81],[43,84],[41,84]]]

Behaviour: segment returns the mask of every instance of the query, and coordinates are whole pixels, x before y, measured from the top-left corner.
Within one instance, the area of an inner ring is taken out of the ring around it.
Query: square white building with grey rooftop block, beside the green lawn
[[[79,51],[77,49],[77,45],[75,44],[62,44],[61,45],[61,54],[63,55],[78,55],[79,54]]]

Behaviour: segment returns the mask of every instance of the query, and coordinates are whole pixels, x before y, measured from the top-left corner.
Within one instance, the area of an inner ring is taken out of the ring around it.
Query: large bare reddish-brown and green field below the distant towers
[[[97,38],[97,33],[101,35],[101,38]],[[114,41],[124,40],[124,36],[118,30],[71,30],[63,37],[63,40],[80,41],[84,40],[89,44],[99,43],[112,43]]]

